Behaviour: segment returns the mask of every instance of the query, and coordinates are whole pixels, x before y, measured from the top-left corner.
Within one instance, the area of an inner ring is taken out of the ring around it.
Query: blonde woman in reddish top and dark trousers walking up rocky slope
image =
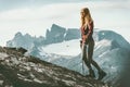
[[[82,49],[82,60],[84,61],[86,65],[89,69],[90,77],[95,77],[94,71],[92,66],[95,66],[99,71],[99,80],[101,80],[106,73],[98,65],[98,63],[92,59],[93,49],[94,49],[94,40],[92,37],[93,34],[93,20],[91,17],[90,11],[88,8],[81,9],[81,41],[80,47]],[[88,48],[87,48],[88,46]]]

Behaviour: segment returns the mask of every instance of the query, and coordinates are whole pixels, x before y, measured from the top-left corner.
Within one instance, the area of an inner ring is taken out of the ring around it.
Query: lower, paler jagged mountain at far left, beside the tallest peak
[[[40,46],[44,37],[31,37],[29,34],[23,35],[22,33],[16,33],[12,40],[6,41],[8,47],[22,47],[25,49],[31,49],[35,46]]]

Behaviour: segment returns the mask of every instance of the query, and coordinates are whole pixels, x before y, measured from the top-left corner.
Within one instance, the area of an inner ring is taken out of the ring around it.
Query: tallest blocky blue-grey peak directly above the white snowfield
[[[53,24],[51,30],[47,30],[46,45],[62,42],[64,40],[72,40],[80,38],[79,29],[77,28],[64,28]]]

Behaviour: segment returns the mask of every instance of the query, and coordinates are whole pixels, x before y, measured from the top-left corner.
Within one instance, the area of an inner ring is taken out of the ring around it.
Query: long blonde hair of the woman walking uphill
[[[83,26],[84,24],[89,24],[90,22],[92,22],[92,17],[90,14],[90,11],[88,8],[83,8],[81,9],[81,12],[84,13],[84,16],[81,16],[81,26]]]

